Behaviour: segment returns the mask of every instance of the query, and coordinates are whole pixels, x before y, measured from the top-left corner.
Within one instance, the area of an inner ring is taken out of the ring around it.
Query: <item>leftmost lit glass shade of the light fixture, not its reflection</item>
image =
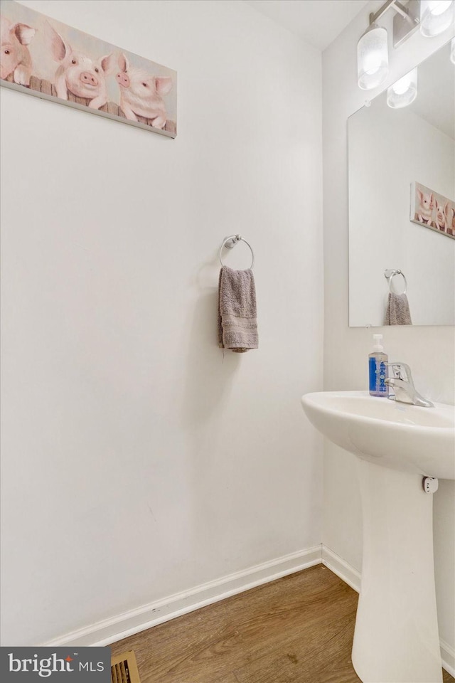
[[[388,72],[387,31],[373,23],[357,43],[358,87],[376,88],[384,83]]]

